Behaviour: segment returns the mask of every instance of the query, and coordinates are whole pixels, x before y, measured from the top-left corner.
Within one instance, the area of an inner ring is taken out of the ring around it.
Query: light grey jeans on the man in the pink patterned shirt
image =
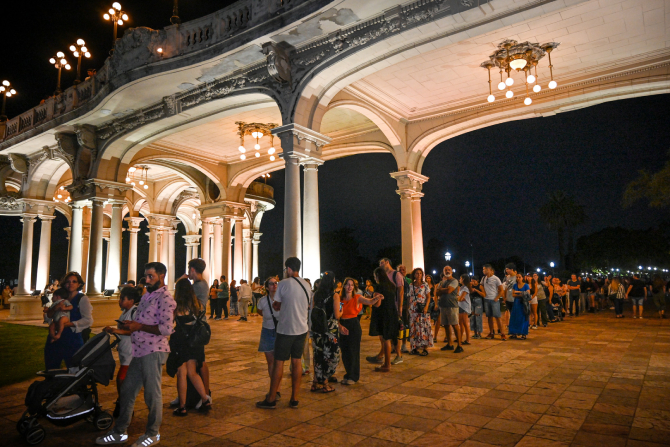
[[[133,357],[128,366],[126,380],[121,385],[119,405],[121,412],[114,424],[114,431],[123,434],[130,425],[137,394],[144,387],[144,402],[149,408],[145,434],[156,436],[163,420],[163,394],[161,374],[167,352],[153,352],[144,357]]]

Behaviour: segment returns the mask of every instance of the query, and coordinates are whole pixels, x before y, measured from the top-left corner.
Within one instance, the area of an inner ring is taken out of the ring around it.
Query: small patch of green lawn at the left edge
[[[44,369],[47,327],[0,323],[0,386],[35,376]]]

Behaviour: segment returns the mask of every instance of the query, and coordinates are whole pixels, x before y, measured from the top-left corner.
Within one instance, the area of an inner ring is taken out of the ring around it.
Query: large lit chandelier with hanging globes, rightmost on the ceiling
[[[537,83],[537,64],[545,54],[549,58],[549,74],[551,80],[548,87],[555,89],[558,84],[554,81],[554,66],[551,64],[551,52],[560,45],[559,42],[548,42],[542,45],[531,42],[517,42],[516,40],[508,39],[498,44],[498,49],[489,56],[489,60],[481,63],[481,67],[486,68],[489,72],[489,96],[488,102],[493,102],[496,97],[493,95],[491,87],[491,69],[498,67],[500,70],[500,82],[498,83],[498,90],[505,90],[507,87],[514,85],[514,78],[512,78],[512,70],[517,72],[523,71],[526,83],[526,98],[523,103],[527,106],[533,103],[529,96],[528,88],[533,86],[533,91],[538,93],[542,87]],[[507,73],[507,78],[503,80],[503,71]],[[511,99],[514,96],[512,90],[507,90],[505,97]]]

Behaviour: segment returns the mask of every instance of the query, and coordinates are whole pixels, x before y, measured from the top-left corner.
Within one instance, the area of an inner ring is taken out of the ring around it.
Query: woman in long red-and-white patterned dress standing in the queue
[[[427,356],[428,348],[433,347],[433,331],[430,323],[429,307],[431,303],[430,286],[423,280],[421,268],[412,271],[412,283],[409,285],[409,344],[410,354]]]

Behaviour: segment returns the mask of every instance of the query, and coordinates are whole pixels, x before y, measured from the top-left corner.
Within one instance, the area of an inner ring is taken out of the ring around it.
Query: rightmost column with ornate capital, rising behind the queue
[[[424,268],[423,229],[421,226],[422,185],[428,177],[414,171],[391,173],[398,183],[400,196],[400,229],[402,234],[402,263],[410,271],[416,267]]]

